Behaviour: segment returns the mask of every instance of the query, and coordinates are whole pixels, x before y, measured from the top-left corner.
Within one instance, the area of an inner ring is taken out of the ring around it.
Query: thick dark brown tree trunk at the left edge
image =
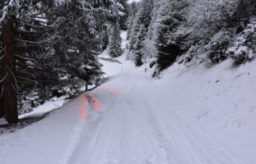
[[[15,78],[15,58],[14,58],[14,36],[15,27],[12,16],[7,16],[2,27],[2,43],[5,48],[2,58],[2,67],[7,78],[3,81],[2,87],[5,116],[9,124],[18,121],[17,98],[16,98],[16,78]]]

